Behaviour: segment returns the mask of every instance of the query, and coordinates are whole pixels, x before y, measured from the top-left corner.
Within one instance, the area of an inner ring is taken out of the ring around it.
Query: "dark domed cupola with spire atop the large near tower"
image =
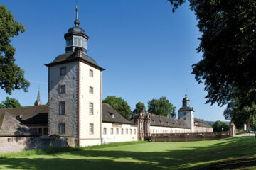
[[[78,20],[78,6],[75,8],[75,26],[68,29],[68,33],[65,33],[64,38],[66,40],[65,52],[73,52],[76,47],[82,47],[82,52],[87,53],[87,40],[89,37],[85,34],[85,30],[79,27]]]

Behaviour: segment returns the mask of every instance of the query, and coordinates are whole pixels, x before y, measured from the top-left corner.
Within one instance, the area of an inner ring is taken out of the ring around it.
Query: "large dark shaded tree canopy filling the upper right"
[[[173,11],[185,2],[169,1]],[[206,103],[228,104],[224,115],[236,123],[250,121],[256,104],[256,1],[189,2],[202,33],[196,50],[203,54],[192,74],[205,84]]]

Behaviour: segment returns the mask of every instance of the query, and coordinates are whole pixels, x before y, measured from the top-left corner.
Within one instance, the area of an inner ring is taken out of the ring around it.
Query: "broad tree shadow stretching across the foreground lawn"
[[[233,137],[206,147],[178,147],[164,152],[77,148],[36,157],[0,159],[0,169],[233,169],[256,166],[255,157],[250,157],[255,155],[255,148],[252,137]]]

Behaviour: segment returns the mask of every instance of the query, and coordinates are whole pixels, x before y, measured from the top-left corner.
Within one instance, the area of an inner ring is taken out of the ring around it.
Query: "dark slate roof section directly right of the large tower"
[[[106,103],[102,103],[102,121],[105,123],[131,124],[131,122],[122,117],[122,115],[117,113],[117,111],[115,111],[114,108],[112,108],[110,105]]]

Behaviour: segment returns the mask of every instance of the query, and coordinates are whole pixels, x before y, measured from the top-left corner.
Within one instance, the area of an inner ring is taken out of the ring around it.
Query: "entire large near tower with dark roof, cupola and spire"
[[[102,69],[87,55],[88,36],[68,29],[65,53],[48,67],[48,135],[75,140],[75,146],[100,145],[102,139]]]

